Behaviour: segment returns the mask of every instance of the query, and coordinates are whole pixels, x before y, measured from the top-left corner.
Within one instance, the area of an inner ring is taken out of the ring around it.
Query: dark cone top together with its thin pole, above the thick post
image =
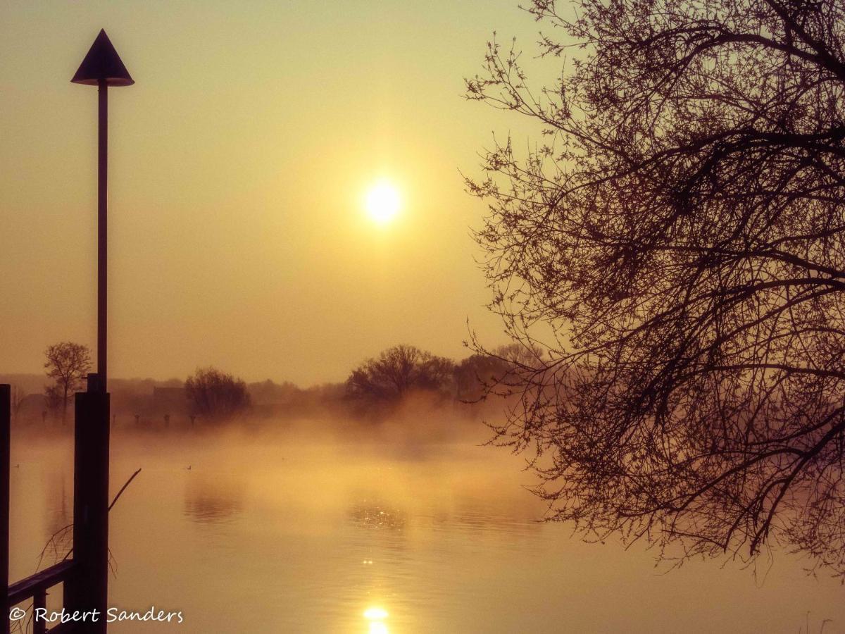
[[[74,84],[95,85],[99,90],[98,152],[97,152],[97,374],[99,390],[106,391],[106,273],[107,273],[107,198],[108,178],[108,87],[133,85],[134,79],[123,65],[106,31],[91,45]]]

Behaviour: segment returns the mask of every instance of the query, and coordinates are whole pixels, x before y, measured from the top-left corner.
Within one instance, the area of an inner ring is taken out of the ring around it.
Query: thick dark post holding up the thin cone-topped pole
[[[76,394],[74,430],[74,561],[78,569],[65,583],[68,611],[99,611],[95,622],[74,631],[103,634],[108,605],[109,395],[96,374],[88,391]]]

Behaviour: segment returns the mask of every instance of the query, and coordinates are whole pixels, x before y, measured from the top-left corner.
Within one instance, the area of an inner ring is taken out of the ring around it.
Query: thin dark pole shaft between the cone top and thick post
[[[100,389],[106,391],[106,282],[108,280],[108,85],[97,84],[99,101],[97,150],[97,374]]]

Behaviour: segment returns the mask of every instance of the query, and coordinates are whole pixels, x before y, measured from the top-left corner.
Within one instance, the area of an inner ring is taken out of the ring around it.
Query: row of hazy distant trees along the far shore
[[[425,393],[442,400],[478,402],[492,393],[508,394],[509,377],[542,363],[537,347],[519,343],[495,348],[492,352],[472,353],[455,361],[421,348],[400,344],[366,358],[350,371],[342,384],[322,385],[303,390],[292,383],[276,384],[270,380],[247,384],[243,379],[214,367],[199,368],[182,381],[168,382],[169,388],[183,389],[187,414],[192,421],[200,418],[220,422],[254,412],[254,405],[264,402],[336,402],[367,412],[370,407],[390,406],[413,393]],[[68,404],[75,391],[85,389],[91,371],[90,349],[74,342],[60,342],[45,351],[45,374],[51,380],[43,390],[45,414],[67,421]],[[131,404],[121,401],[121,380],[117,385],[115,408]],[[152,382],[147,390],[154,387]],[[14,389],[13,409],[26,396]],[[139,395],[123,401],[139,402]],[[143,395],[142,395],[143,396]],[[124,406],[124,407],[121,407]],[[139,407],[135,407],[138,409]]]

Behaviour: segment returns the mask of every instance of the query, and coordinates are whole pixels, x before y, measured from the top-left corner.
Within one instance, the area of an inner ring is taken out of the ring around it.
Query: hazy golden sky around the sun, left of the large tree
[[[493,30],[537,39],[517,4],[0,1],[0,371],[94,348],[96,89],[69,79],[101,27],[136,81],[109,91],[112,376],[343,380],[399,342],[460,358],[467,318],[501,342],[458,170],[520,129],[462,98]]]

